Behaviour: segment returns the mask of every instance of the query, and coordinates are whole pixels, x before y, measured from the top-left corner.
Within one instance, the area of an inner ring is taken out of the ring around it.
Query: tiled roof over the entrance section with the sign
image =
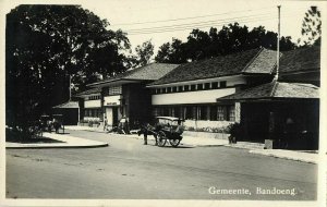
[[[119,80],[135,80],[135,81],[156,81],[175,69],[178,64],[167,63],[150,63],[141,68],[129,70],[124,73],[118,74],[89,85],[97,85],[100,83],[110,83]]]

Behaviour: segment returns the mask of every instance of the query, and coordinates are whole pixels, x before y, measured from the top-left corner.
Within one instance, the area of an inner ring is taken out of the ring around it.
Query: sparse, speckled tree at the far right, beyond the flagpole
[[[299,42],[303,41],[305,46],[320,45],[322,20],[320,11],[317,7],[311,7],[307,12],[305,12],[301,33],[303,38],[299,39]]]

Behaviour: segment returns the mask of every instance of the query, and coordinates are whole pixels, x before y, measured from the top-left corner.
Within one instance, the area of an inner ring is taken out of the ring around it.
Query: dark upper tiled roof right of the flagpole
[[[279,65],[280,73],[320,70],[320,47],[282,52]]]

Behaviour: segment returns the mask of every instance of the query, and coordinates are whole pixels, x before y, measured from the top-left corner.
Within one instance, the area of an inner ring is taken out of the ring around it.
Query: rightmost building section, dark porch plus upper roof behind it
[[[271,139],[277,143],[274,148],[316,150],[319,85],[320,49],[313,46],[283,52],[272,82],[217,98],[217,102],[241,106],[241,139]]]

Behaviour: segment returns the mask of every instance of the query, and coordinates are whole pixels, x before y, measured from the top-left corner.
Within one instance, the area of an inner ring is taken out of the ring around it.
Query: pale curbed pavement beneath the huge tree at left
[[[73,137],[66,134],[44,133],[44,136],[56,139],[58,143],[5,143],[5,148],[90,148],[109,146],[108,143]]]

